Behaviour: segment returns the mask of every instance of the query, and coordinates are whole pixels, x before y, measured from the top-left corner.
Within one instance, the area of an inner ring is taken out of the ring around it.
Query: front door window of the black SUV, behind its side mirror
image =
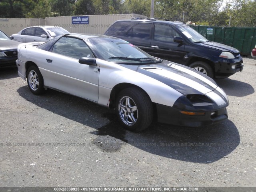
[[[180,37],[180,35],[170,26],[155,24],[154,40],[173,42],[174,37]]]

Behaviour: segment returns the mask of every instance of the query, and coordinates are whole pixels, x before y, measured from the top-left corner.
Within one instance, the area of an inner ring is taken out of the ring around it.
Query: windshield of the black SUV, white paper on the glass
[[[201,34],[199,34],[196,30],[192,29],[188,25],[176,25],[176,28],[194,43],[208,41],[206,38],[204,38]]]

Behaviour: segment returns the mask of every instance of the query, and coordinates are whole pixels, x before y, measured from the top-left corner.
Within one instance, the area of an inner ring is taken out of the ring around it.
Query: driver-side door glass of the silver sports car
[[[80,59],[82,57],[94,58],[92,51],[80,39],[62,37],[54,44],[52,52],[62,54],[68,57]]]

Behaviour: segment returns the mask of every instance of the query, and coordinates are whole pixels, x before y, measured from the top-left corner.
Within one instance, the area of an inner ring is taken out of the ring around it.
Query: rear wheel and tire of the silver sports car
[[[36,66],[30,66],[28,68],[27,83],[28,83],[29,90],[33,94],[40,95],[45,92],[43,76]]]

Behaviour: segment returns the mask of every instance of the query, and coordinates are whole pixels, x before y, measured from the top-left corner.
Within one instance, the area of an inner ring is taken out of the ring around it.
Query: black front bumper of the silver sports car
[[[179,109],[161,104],[156,104],[156,109],[158,122],[178,126],[207,126],[220,123],[228,118],[226,107],[217,110],[204,111],[205,114],[201,116],[182,114]]]

